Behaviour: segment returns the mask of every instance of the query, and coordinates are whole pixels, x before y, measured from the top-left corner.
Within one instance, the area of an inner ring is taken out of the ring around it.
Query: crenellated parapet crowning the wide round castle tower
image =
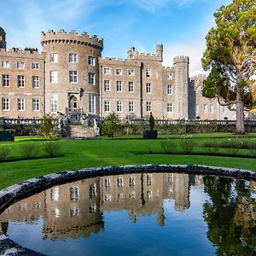
[[[90,37],[87,32],[82,32],[80,35],[75,30],[67,33],[63,29],[59,32],[54,32],[53,30],[41,32],[42,46],[53,43],[81,44],[103,49],[103,39],[97,38],[96,35]]]

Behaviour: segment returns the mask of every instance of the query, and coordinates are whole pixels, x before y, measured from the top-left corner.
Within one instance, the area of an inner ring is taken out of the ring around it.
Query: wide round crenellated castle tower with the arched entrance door
[[[99,114],[99,65],[103,41],[86,32],[42,32],[46,113]]]

